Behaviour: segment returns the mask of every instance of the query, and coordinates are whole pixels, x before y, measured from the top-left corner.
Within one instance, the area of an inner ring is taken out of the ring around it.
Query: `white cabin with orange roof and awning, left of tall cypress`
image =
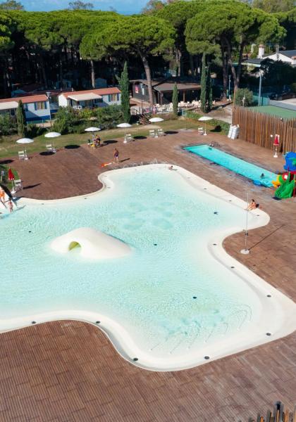
[[[64,92],[58,96],[58,106],[73,108],[94,108],[121,104],[118,88],[87,89],[87,91]]]

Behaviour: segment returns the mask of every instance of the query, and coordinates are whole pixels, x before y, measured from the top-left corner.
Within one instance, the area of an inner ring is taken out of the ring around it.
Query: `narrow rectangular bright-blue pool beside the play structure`
[[[213,148],[209,145],[187,146],[184,149],[186,151],[190,151],[190,153],[200,155],[207,160],[216,162],[216,164],[222,165],[228,170],[232,170],[233,172],[245,176],[248,179],[252,179],[253,181],[260,181],[262,186],[273,186],[271,181],[276,180],[277,177],[277,174],[269,172],[269,170],[258,167],[251,162],[241,160],[234,155],[224,153],[224,151],[220,151],[217,148]],[[262,173],[264,174],[264,177],[261,177]]]

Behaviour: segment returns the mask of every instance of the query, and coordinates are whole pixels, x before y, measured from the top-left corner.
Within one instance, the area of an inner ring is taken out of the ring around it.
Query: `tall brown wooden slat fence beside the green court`
[[[275,134],[278,134],[280,135],[280,152],[296,151],[296,119],[282,119],[235,106],[233,107],[233,124],[240,126],[240,139],[273,149],[273,139]]]

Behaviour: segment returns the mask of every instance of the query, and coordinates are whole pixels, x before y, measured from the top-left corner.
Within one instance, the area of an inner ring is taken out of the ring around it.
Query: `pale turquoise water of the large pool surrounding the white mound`
[[[186,357],[259,321],[257,294],[218,262],[209,239],[245,211],[178,171],[114,172],[85,198],[33,202],[0,219],[0,319],[65,309],[109,316],[152,357]],[[256,219],[249,215],[249,224]],[[117,260],[60,255],[57,236],[88,226],[132,247]],[[184,360],[185,362],[185,360]]]

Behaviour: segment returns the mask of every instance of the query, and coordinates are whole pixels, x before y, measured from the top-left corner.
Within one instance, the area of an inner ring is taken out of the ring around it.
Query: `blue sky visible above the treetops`
[[[26,11],[54,11],[68,8],[71,0],[18,0],[25,7]],[[110,8],[116,9],[118,13],[130,14],[138,13],[147,3],[147,0],[83,0],[90,2],[94,9],[109,11]]]

